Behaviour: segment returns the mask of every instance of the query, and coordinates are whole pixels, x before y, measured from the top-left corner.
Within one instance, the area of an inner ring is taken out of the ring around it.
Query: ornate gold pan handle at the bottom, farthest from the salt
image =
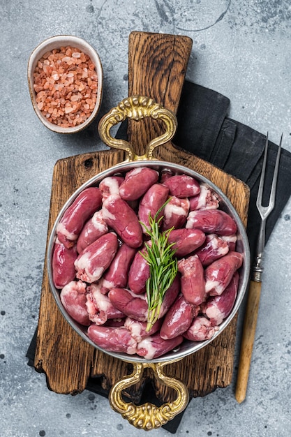
[[[165,376],[162,371],[165,364],[169,364],[169,362],[133,363],[133,373],[117,381],[110,390],[109,400],[112,408],[136,428],[144,429],[145,431],[159,428],[181,413],[188,404],[189,394],[186,385],[181,380]],[[140,406],[136,406],[132,402],[126,403],[122,399],[122,390],[140,381],[145,367],[153,369],[160,383],[172,387],[177,392],[177,399],[172,402],[163,403],[160,407],[149,402]]]

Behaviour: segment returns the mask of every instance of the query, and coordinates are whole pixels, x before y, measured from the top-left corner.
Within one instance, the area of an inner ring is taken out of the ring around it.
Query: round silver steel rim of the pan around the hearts
[[[221,199],[220,200],[220,209],[223,209],[223,210],[225,210],[225,212],[230,214],[230,216],[232,216],[232,218],[234,218],[234,220],[237,223],[237,235],[238,235],[237,251],[240,251],[241,253],[244,254],[244,262],[243,262],[241,269],[239,270],[239,276],[240,276],[240,278],[239,278],[239,292],[237,294],[236,302],[234,304],[232,312],[223,321],[223,323],[221,323],[221,325],[219,325],[219,329],[214,334],[214,336],[210,340],[207,340],[207,341],[199,341],[199,342],[198,341],[184,341],[184,343],[182,343],[182,345],[179,348],[172,350],[170,353],[165,354],[163,357],[158,357],[158,358],[153,359],[153,360],[145,360],[144,358],[137,356],[137,355],[127,355],[125,353],[114,353],[114,352],[110,352],[108,350],[105,350],[103,348],[99,348],[98,346],[96,346],[96,344],[93,341],[91,341],[91,339],[89,339],[89,337],[86,334],[87,327],[83,327],[82,325],[76,323],[75,320],[73,320],[73,318],[71,318],[68,315],[68,313],[64,309],[63,304],[61,303],[60,291],[54,287],[54,283],[52,281],[52,249],[53,249],[54,241],[55,241],[56,235],[57,235],[57,225],[58,225],[61,217],[63,216],[64,212],[73,203],[73,201],[75,200],[77,195],[79,195],[84,190],[84,188],[88,188],[89,186],[98,186],[98,184],[101,182],[101,180],[104,179],[105,177],[117,175],[118,173],[126,172],[132,168],[144,167],[144,166],[156,168],[157,170],[158,169],[162,170],[162,169],[167,168],[167,169],[171,170],[172,172],[174,172],[174,174],[184,173],[184,174],[187,174],[189,176],[195,177],[195,179],[197,179],[199,182],[207,184],[210,188],[212,188],[219,195],[219,197]],[[78,188],[77,191],[75,191],[75,193],[73,193],[73,195],[70,196],[70,198],[65,203],[64,207],[62,207],[61,211],[59,212],[59,215],[57,216],[57,220],[55,221],[54,226],[52,228],[52,232],[50,234],[50,239],[49,239],[49,242],[47,245],[47,273],[48,273],[48,278],[49,278],[49,282],[50,282],[50,288],[52,290],[52,294],[54,296],[54,299],[57,302],[57,306],[59,307],[59,310],[61,311],[64,318],[67,320],[67,322],[70,324],[70,326],[75,330],[75,332],[77,332],[77,334],[79,334],[82,337],[82,339],[84,339],[89,344],[91,344],[91,346],[94,346],[94,348],[99,349],[102,352],[107,353],[108,355],[111,355],[112,357],[119,358],[119,359],[124,360],[126,362],[157,363],[157,362],[169,362],[169,361],[173,361],[173,360],[174,361],[180,360],[180,359],[186,357],[187,355],[191,355],[192,353],[197,352],[197,350],[204,348],[204,346],[207,346],[209,343],[211,343],[211,341],[216,339],[216,337],[219,334],[221,334],[223,329],[225,329],[225,327],[227,327],[227,325],[229,325],[232,318],[234,318],[235,314],[237,313],[237,310],[239,309],[239,306],[241,305],[242,300],[244,299],[244,294],[245,294],[246,288],[248,286],[248,279],[249,279],[248,272],[250,271],[250,267],[251,267],[250,259],[251,259],[251,255],[250,255],[250,249],[249,249],[249,245],[248,245],[248,237],[246,235],[246,230],[244,228],[244,225],[241,223],[241,219],[239,218],[237,211],[234,209],[230,200],[227,199],[227,197],[223,193],[223,191],[221,191],[221,189],[218,188],[215,184],[213,184],[209,179],[207,179],[206,177],[195,172],[195,170],[188,169],[188,168],[184,167],[183,165],[170,163],[170,162],[164,162],[164,161],[155,161],[155,160],[131,161],[131,162],[127,162],[127,163],[120,163],[120,164],[114,165],[112,168],[109,168],[107,170],[104,170],[103,172],[100,172],[98,175],[92,177],[87,182],[82,184],[82,186],[80,186],[80,188]]]

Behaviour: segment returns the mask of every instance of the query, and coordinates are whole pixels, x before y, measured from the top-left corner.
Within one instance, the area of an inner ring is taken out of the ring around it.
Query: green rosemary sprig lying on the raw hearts
[[[169,202],[169,200],[170,199],[168,199],[167,202]],[[178,270],[177,258],[174,258],[174,250],[172,249],[174,243],[168,244],[167,242],[173,228],[165,230],[165,232],[160,232],[160,224],[163,220],[163,216],[158,218],[158,215],[161,213],[163,207],[167,205],[167,202],[158,209],[154,218],[149,214],[149,227],[140,222],[144,226],[147,235],[151,237],[151,244],[145,243],[147,251],[145,253],[140,252],[149,264],[150,271],[150,276],[146,284],[148,304],[147,331],[149,331],[156,320],[158,320],[165,292],[172,285]]]

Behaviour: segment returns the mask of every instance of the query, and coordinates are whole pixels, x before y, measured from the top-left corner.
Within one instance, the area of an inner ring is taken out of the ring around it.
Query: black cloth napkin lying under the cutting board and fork
[[[228,174],[241,179],[251,189],[247,234],[252,258],[255,253],[256,236],[260,225],[260,215],[255,207],[258,193],[260,170],[264,154],[266,133],[259,133],[244,124],[227,117],[230,100],[221,94],[185,81],[177,113],[178,128],[174,145],[195,154],[205,161],[216,165]],[[126,138],[126,123],[117,132],[118,138]],[[266,187],[263,201],[269,199],[271,177],[274,172],[278,146],[270,143],[266,170]],[[283,208],[291,195],[291,154],[282,149],[278,173],[276,205],[267,218],[266,242]],[[33,366],[36,350],[36,334],[27,350],[28,364]],[[87,390],[104,397],[108,392],[101,387],[100,378],[89,378]],[[149,401],[161,405],[154,394],[153,387],[144,388],[140,403]],[[183,413],[163,426],[175,434]]]

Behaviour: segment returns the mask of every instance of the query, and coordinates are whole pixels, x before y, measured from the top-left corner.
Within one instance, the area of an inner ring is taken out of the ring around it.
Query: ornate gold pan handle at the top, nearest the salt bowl
[[[144,117],[162,120],[165,123],[166,131],[163,135],[151,140],[146,147],[146,153],[142,156],[138,156],[135,154],[129,142],[113,138],[112,135],[110,135],[110,129],[126,118],[140,121],[144,119]],[[176,128],[177,118],[173,112],[166,110],[152,98],[132,96],[124,98],[116,108],[112,108],[110,112],[100,119],[98,132],[101,140],[105,142],[106,145],[125,150],[128,154],[127,161],[140,161],[142,159],[153,159],[154,149],[170,141],[174,136]]]

